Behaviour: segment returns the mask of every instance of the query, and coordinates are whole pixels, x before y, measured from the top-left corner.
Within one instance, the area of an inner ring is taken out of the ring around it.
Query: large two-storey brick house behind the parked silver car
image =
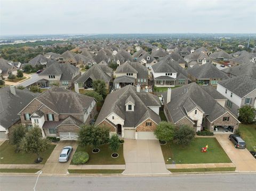
[[[43,137],[76,140],[81,125],[89,124],[94,118],[96,105],[93,97],[52,86],[35,97],[18,115],[22,124],[41,128]]]

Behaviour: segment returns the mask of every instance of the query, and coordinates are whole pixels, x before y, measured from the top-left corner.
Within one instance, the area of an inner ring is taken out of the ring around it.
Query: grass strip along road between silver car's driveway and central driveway
[[[124,170],[119,169],[76,169],[76,170],[68,170],[70,174],[121,174]]]

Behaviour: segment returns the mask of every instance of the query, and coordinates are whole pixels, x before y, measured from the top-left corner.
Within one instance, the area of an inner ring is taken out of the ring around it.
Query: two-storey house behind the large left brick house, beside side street
[[[58,84],[60,87],[71,87],[73,82],[81,76],[79,68],[70,63],[54,63],[38,74],[40,80],[39,86],[49,87],[52,84]]]

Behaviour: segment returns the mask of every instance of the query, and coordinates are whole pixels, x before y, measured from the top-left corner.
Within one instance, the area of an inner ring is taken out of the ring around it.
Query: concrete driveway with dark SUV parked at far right
[[[256,159],[247,149],[235,148],[234,144],[228,139],[227,134],[216,134],[218,142],[227,153],[229,159],[235,164],[236,171],[253,172],[256,171]]]

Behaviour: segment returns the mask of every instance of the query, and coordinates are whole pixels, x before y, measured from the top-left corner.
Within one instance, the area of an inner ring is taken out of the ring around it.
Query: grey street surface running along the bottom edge
[[[0,176],[0,190],[33,190],[36,176]],[[41,176],[39,190],[255,190],[256,174],[175,175],[162,177]]]

